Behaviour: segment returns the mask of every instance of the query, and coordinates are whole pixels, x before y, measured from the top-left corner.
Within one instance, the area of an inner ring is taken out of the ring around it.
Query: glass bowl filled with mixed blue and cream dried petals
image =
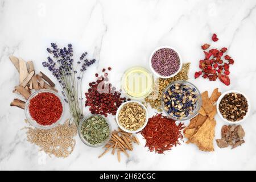
[[[201,94],[191,82],[174,81],[164,89],[162,109],[170,118],[184,121],[195,117],[202,105]]]

